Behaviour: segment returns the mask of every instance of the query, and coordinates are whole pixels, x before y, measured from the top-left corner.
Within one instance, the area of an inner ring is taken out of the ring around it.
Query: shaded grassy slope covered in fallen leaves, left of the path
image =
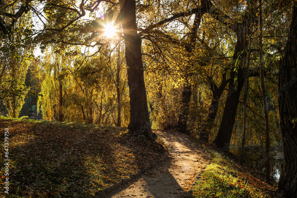
[[[126,128],[0,118],[0,157],[9,128],[9,194],[0,197],[89,197],[129,178],[162,155]],[[160,141],[157,141],[160,142]]]

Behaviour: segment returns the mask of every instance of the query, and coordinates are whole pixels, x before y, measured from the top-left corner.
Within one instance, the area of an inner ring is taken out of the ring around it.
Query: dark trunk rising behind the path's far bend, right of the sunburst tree
[[[200,25],[202,14],[201,13],[196,13],[195,14],[195,19],[193,22],[192,30],[189,34],[189,44],[185,46],[185,49],[189,53],[189,57],[191,56],[193,52],[193,48],[195,47],[196,43],[196,37],[197,37],[197,30]],[[190,65],[190,61],[188,61],[188,65]],[[192,96],[192,91],[191,91],[191,84],[189,83],[189,70],[190,66],[187,66],[186,68],[186,83],[184,84],[183,91],[182,91],[182,99],[181,99],[181,113],[178,116],[178,123],[177,123],[177,128],[178,132],[189,134],[187,131],[187,118],[189,114],[189,104]]]

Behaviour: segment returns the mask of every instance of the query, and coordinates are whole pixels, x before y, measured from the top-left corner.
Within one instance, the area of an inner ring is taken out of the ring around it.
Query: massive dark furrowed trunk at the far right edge
[[[295,2],[294,2],[295,3]],[[278,182],[278,191],[285,197],[297,197],[297,7],[293,6],[293,19],[279,63],[278,101],[280,132],[283,140],[284,162]],[[295,118],[295,119],[294,119]],[[294,119],[294,120],[293,120]],[[292,121],[293,120],[293,121]]]

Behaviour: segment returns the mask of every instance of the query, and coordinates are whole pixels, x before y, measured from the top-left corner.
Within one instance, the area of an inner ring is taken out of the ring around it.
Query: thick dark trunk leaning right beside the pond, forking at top
[[[220,123],[219,131],[213,141],[213,143],[216,144],[218,148],[221,148],[224,152],[227,152],[230,146],[236,110],[245,77],[251,76],[245,74],[245,72],[249,72],[249,70],[245,70],[242,66],[242,63],[247,57],[247,49],[249,45],[248,38],[254,34],[255,31],[253,31],[253,29],[255,29],[256,25],[256,2],[249,1],[248,3],[248,6],[245,6],[244,15],[242,15],[239,19],[231,19],[228,15],[224,15],[223,18],[219,18],[215,13],[220,12],[214,10],[214,18],[217,18],[217,20],[228,26],[236,34],[236,43],[233,53],[235,67],[233,67],[231,69],[232,71],[230,72],[230,79],[232,83],[229,83],[224,113]],[[238,12],[237,14],[241,15],[241,12]],[[241,20],[241,22],[238,22],[237,20]]]

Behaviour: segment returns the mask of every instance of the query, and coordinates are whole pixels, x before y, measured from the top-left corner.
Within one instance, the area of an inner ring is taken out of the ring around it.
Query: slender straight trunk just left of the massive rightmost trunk
[[[266,90],[264,84],[264,69],[262,62],[262,0],[259,1],[260,4],[260,38],[259,38],[259,47],[260,47],[260,81],[261,81],[261,90],[262,90],[262,100],[263,100],[263,110],[265,118],[265,148],[266,148],[266,180],[270,182],[270,141],[269,141],[269,123],[268,123],[268,108],[266,101]]]

